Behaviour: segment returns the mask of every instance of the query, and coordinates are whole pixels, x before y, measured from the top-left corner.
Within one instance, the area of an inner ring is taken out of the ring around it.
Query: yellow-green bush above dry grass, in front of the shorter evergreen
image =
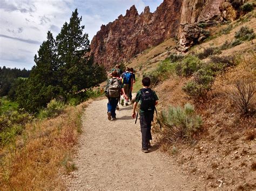
[[[65,105],[61,101],[52,99],[47,107],[41,110],[38,114],[39,119],[50,118],[58,116],[65,108]]]

